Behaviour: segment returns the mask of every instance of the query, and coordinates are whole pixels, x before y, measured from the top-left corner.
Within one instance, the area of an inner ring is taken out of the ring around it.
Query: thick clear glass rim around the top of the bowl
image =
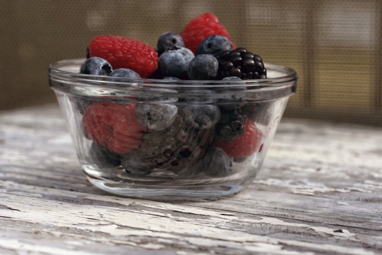
[[[48,67],[48,75],[50,78],[58,79],[71,79],[77,82],[84,83],[98,83],[107,85],[113,83],[113,86],[123,87],[126,85],[131,85],[131,83],[143,83],[144,85],[166,87],[166,88],[206,88],[206,87],[243,87],[249,86],[253,88],[264,88],[264,87],[278,87],[284,86],[285,84],[293,83],[294,86],[297,85],[296,81],[298,79],[297,72],[287,66],[272,64],[264,62],[264,66],[267,70],[273,70],[285,75],[266,78],[266,79],[252,79],[252,80],[240,80],[240,81],[222,81],[222,80],[164,80],[164,79],[152,79],[152,78],[123,78],[123,77],[110,77],[110,76],[99,76],[99,75],[89,75],[81,74],[63,70],[68,66],[78,66],[85,61],[85,58],[77,59],[66,59],[51,63]]]

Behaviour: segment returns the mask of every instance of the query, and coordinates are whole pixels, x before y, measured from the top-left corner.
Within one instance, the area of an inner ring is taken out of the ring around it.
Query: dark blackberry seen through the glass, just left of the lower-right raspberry
[[[221,107],[220,111],[221,117],[215,127],[215,140],[230,142],[244,135],[247,116],[241,108],[226,109]]]

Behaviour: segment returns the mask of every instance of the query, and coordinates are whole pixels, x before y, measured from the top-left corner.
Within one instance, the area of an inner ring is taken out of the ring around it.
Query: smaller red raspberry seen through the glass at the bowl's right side
[[[230,157],[243,158],[252,155],[257,148],[260,147],[259,151],[263,148],[260,145],[262,138],[263,133],[256,127],[253,120],[248,119],[243,136],[237,137],[231,142],[220,141],[216,146],[223,149]]]

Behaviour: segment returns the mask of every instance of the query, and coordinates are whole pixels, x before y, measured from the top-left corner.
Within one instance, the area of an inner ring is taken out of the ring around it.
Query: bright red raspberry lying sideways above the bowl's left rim
[[[148,78],[158,68],[158,54],[151,46],[121,36],[96,36],[88,46],[90,57],[109,61],[113,69],[128,68]]]

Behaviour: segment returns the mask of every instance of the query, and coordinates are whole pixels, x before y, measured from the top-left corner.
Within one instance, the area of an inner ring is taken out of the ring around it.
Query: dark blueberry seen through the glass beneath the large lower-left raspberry
[[[116,167],[121,165],[121,156],[119,154],[111,152],[96,143],[92,143],[90,147],[88,160],[98,167]]]

